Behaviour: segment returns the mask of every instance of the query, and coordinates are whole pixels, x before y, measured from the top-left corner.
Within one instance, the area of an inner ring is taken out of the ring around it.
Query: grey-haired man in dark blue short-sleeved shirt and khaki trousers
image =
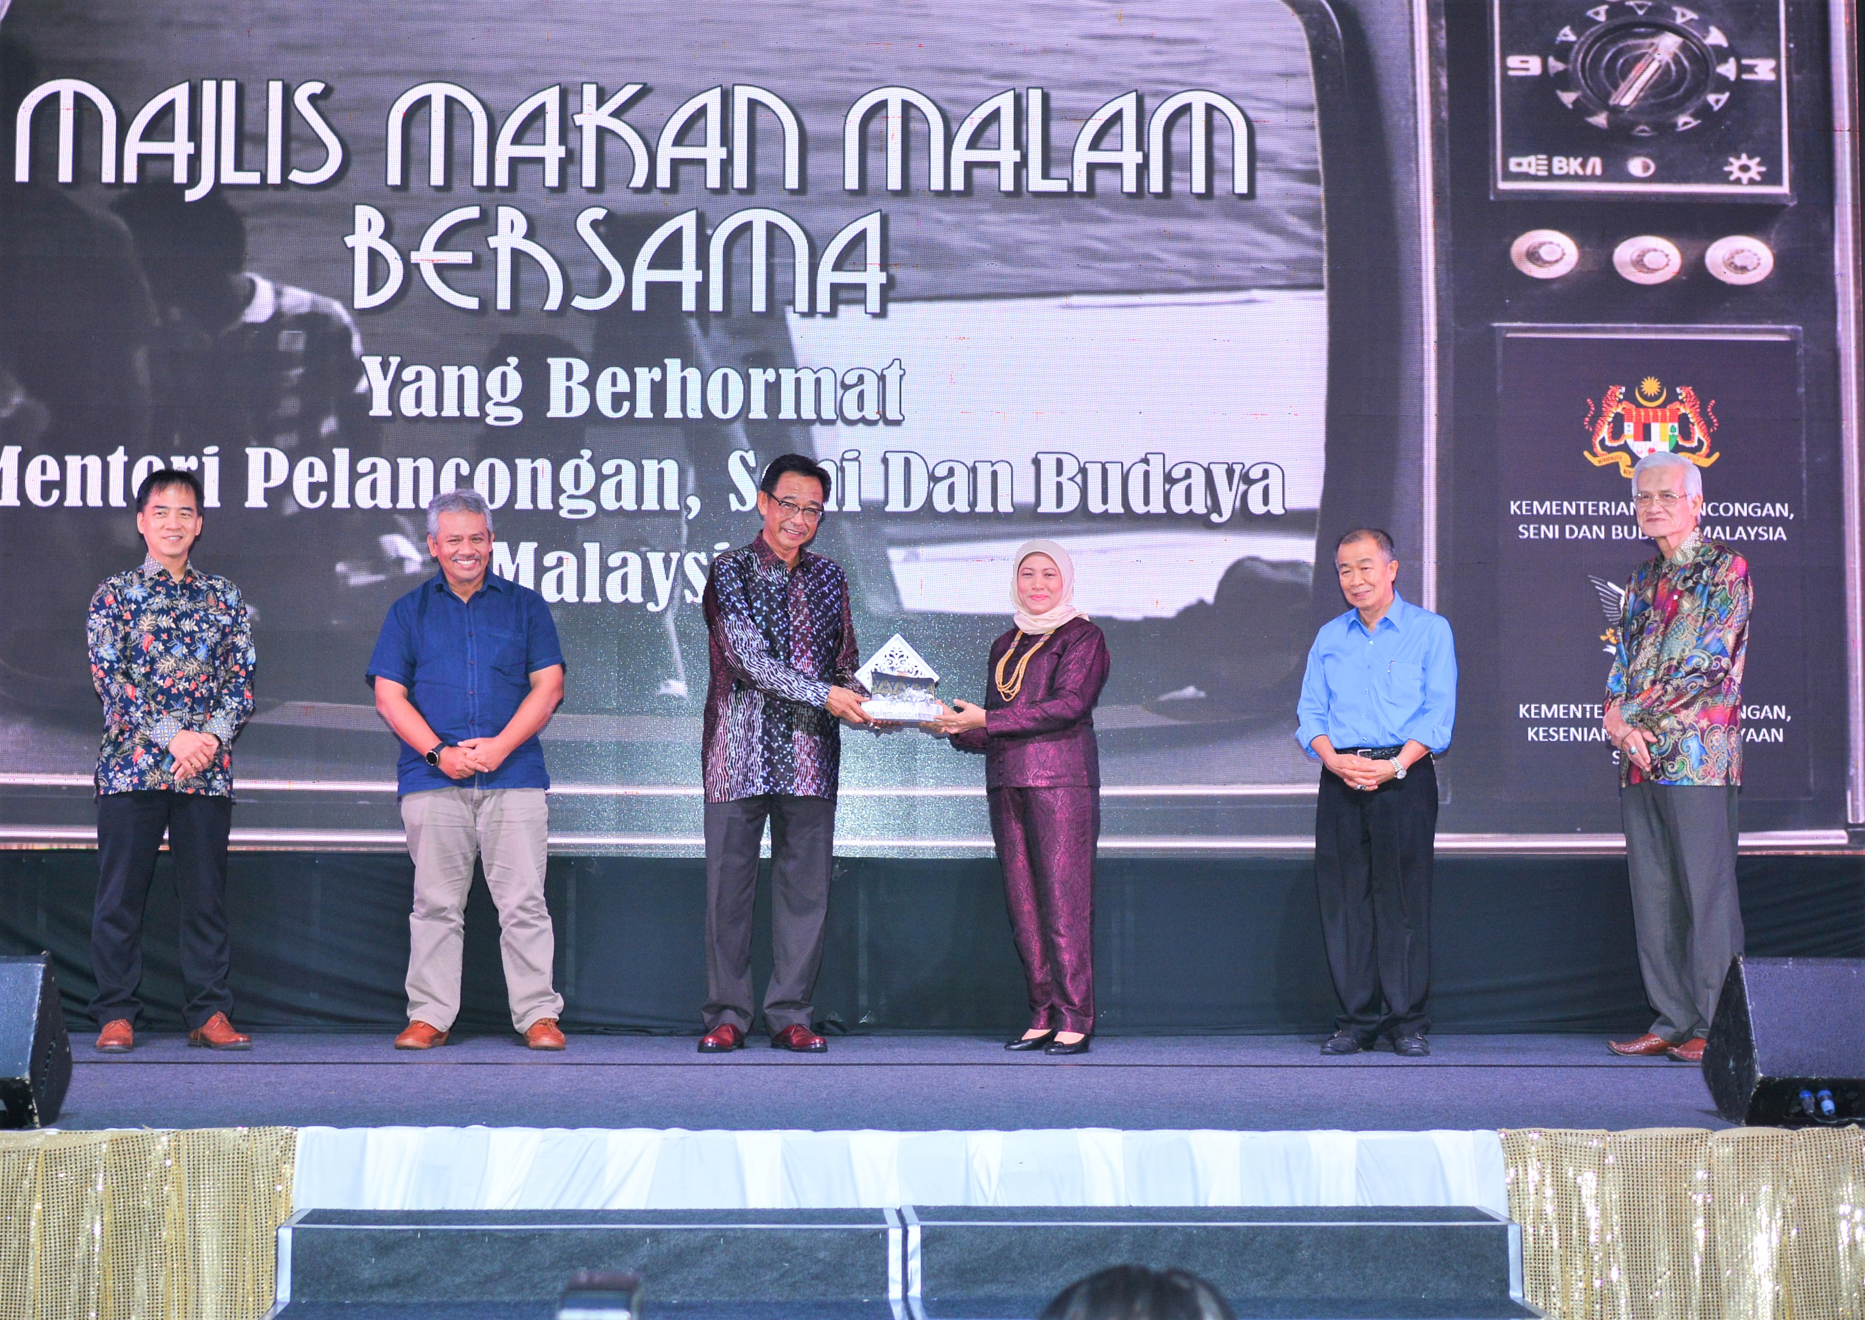
[[[414,858],[408,1029],[397,1050],[448,1042],[461,1007],[461,945],[474,858],[498,904],[511,1025],[561,1050],[545,906],[550,813],[537,733],[563,701],[563,651],[545,598],[487,572],[492,513],[477,490],[427,505],[440,576],[397,600],[369,656],[375,708],[401,738],[401,822]]]

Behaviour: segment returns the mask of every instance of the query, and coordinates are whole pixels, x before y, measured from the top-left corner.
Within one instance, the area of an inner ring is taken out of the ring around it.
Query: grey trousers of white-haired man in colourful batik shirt
[[[1736,787],[1634,783],[1619,792],[1632,923],[1654,1035],[1710,1035],[1729,960],[1742,953]]]

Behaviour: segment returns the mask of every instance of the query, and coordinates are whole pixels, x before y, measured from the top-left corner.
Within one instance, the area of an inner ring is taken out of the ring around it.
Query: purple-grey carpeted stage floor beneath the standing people
[[[528,1126],[1020,1130],[1720,1128],[1701,1068],[1619,1059],[1606,1038],[1432,1037],[1429,1059],[1324,1059],[1320,1037],[1106,1037],[1087,1055],[977,1037],[839,1037],[791,1055],[753,1037],[515,1035],[427,1053],[392,1037],[259,1035],[250,1052],[145,1035],[127,1055],[73,1040],[62,1128]]]

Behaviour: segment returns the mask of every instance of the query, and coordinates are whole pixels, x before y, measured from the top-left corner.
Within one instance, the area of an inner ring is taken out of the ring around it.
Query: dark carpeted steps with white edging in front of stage
[[[580,1268],[638,1273],[643,1314],[988,1320],[1110,1260],[1190,1270],[1238,1320],[1535,1314],[1518,1231],[1468,1206],[304,1210],[278,1236],[282,1320],[535,1305]]]

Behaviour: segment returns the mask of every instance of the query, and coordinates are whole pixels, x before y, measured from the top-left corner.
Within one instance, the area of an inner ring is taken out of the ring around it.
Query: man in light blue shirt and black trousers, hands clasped
[[[1358,528],[1333,563],[1354,606],[1307,653],[1296,742],[1320,761],[1315,884],[1341,1016],[1322,1053],[1382,1035],[1427,1055],[1430,867],[1438,832],[1432,757],[1451,746],[1457,647],[1447,619],[1393,589],[1391,537]]]

